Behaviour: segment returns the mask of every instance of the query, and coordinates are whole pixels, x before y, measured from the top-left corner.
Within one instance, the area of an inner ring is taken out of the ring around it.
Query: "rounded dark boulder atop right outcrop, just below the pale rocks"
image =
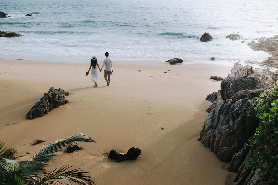
[[[235,93],[242,90],[252,90],[261,84],[258,76],[228,76],[221,82],[221,98],[223,100],[230,99]]]

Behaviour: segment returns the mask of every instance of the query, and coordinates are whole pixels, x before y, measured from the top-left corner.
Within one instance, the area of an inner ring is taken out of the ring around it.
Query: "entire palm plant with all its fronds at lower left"
[[[49,166],[47,162],[54,153],[77,141],[95,142],[89,136],[78,133],[46,146],[43,145],[28,161],[12,160],[11,149],[6,149],[4,143],[0,142],[0,185],[63,184],[59,179],[67,179],[80,185],[94,185],[95,182],[88,176],[88,172],[80,169],[70,170],[72,166],[63,166],[51,172],[44,169]]]

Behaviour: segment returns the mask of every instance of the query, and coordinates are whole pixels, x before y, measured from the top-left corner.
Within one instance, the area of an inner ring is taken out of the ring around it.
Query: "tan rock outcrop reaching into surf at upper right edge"
[[[261,50],[265,52],[273,53],[278,50],[278,35],[269,38],[254,39],[251,43],[247,44],[254,50]]]

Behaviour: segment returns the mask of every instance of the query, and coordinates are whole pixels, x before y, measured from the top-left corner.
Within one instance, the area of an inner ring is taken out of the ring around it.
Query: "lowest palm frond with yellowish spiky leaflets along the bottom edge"
[[[63,166],[60,169],[55,169],[54,171],[49,172],[47,175],[39,177],[37,180],[34,180],[32,182],[36,185],[46,185],[46,184],[63,184],[58,181],[58,179],[67,179],[71,182],[80,184],[80,185],[95,185],[95,181],[92,180],[92,178],[86,171],[81,171],[80,168],[73,169],[67,171],[72,166]]]

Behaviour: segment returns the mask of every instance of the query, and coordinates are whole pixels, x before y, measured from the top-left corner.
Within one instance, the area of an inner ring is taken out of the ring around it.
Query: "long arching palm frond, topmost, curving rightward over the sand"
[[[32,158],[29,159],[32,163],[36,164],[39,167],[45,167],[48,166],[46,162],[49,161],[51,157],[53,157],[55,152],[61,151],[65,146],[69,145],[73,142],[95,142],[93,139],[91,139],[89,136],[78,133],[75,135],[72,135],[65,139],[59,139],[55,142],[50,142],[48,145],[43,145],[38,152],[36,152]]]

